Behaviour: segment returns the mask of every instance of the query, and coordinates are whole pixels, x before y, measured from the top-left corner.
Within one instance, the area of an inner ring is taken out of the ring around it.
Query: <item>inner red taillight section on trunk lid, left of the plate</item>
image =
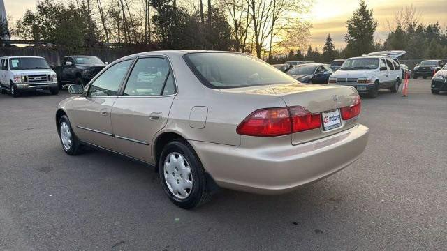
[[[292,132],[302,132],[321,126],[320,114],[311,114],[303,107],[290,107],[292,118]]]

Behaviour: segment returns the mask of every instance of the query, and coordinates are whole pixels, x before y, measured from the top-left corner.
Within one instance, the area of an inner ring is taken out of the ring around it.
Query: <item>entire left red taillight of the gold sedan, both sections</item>
[[[319,128],[320,114],[311,114],[303,107],[260,109],[247,116],[236,132],[240,135],[271,137]]]

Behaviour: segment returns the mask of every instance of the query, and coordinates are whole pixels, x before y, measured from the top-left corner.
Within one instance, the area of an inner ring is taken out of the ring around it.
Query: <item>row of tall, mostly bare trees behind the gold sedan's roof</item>
[[[52,46],[101,42],[147,50],[247,52],[269,59],[307,43],[310,0],[41,0],[11,29],[13,36]]]

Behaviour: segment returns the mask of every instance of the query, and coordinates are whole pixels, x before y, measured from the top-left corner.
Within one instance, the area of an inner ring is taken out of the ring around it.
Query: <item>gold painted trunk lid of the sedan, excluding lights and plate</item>
[[[252,86],[237,89],[221,89],[221,91],[237,92],[244,94],[258,94],[278,96],[287,107],[300,106],[312,114],[323,112],[340,111],[341,107],[349,107],[356,101],[358,93],[351,86],[323,86],[318,84],[277,84],[269,86]],[[260,107],[268,108],[268,107]],[[333,115],[333,114],[332,114]],[[325,130],[323,128],[323,116],[321,116],[321,127],[313,130],[295,132],[291,135],[292,144],[302,144],[322,137],[333,135],[337,132],[347,130],[357,124],[357,118],[344,121],[341,126]]]

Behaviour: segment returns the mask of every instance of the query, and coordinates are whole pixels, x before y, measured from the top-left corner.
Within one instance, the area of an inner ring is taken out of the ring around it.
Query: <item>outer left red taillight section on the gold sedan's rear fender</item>
[[[237,133],[249,136],[279,136],[291,133],[291,118],[288,109],[260,109],[247,116],[239,126]]]

